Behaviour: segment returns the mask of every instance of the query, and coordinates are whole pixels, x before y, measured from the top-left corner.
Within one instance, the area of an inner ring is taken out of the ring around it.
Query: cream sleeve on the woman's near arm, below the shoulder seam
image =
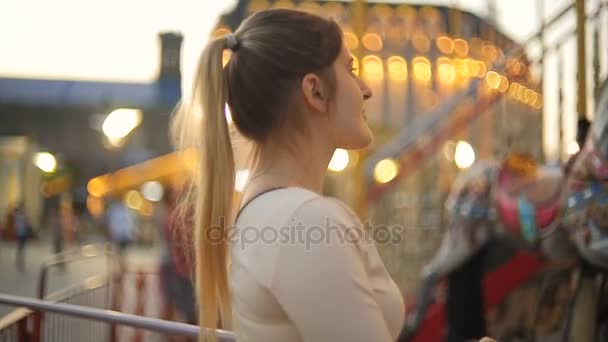
[[[270,290],[302,340],[391,341],[366,272],[367,242],[345,235],[362,231],[361,222],[327,198],[304,203],[294,218],[303,233],[280,247]]]

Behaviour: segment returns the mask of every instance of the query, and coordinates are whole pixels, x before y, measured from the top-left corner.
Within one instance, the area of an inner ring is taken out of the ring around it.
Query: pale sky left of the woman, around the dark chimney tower
[[[152,81],[161,31],[184,34],[196,58],[233,1],[0,0],[0,77]]]

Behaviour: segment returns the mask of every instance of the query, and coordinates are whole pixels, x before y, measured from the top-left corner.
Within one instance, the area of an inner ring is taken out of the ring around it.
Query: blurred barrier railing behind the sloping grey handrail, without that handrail
[[[99,274],[58,292],[47,294],[54,267],[105,257],[107,268]],[[172,319],[164,300],[160,274],[154,267],[119,262],[108,244],[87,245],[52,255],[44,260],[38,277],[38,299],[54,304],[77,305],[96,310],[113,310],[135,315]],[[0,303],[1,304],[1,303]],[[0,318],[3,341],[165,341],[168,336],[152,330],[98,320],[77,318],[52,311],[15,309]]]

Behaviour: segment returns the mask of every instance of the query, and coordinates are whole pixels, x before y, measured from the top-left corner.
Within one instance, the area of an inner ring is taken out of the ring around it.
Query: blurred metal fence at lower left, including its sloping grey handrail
[[[91,258],[105,258],[107,271],[47,295],[50,270]],[[37,300],[0,295],[0,304],[29,308],[0,319],[0,342],[193,340],[196,326],[169,321],[160,284],[156,269],[126,266],[108,245],[53,255],[42,263]]]

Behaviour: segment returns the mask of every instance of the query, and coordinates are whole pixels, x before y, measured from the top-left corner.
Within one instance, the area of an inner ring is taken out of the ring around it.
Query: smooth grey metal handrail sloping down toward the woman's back
[[[88,318],[96,321],[126,325],[134,328],[155,331],[165,334],[175,334],[187,337],[198,337],[201,329],[198,326],[165,321],[158,318],[143,317],[132,314],[121,313],[113,310],[102,310],[84,307],[80,305],[54,303],[47,300],[33,299],[8,294],[0,294],[0,304],[16,307],[26,307],[31,310],[53,312],[60,315]],[[211,334],[207,329],[206,334]],[[227,330],[216,330],[219,342],[235,342],[236,336]]]

